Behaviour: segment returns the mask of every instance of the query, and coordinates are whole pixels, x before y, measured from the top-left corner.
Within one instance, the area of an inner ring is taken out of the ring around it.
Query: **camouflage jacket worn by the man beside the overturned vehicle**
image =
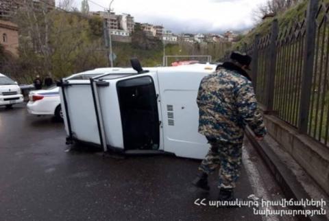
[[[266,134],[252,82],[238,71],[220,68],[204,77],[199,86],[197,105],[199,132],[210,139],[243,143],[246,124],[255,135]]]

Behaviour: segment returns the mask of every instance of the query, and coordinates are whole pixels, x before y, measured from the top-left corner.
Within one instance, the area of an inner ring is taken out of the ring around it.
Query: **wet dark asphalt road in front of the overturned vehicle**
[[[0,107],[0,220],[261,220],[252,209],[194,205],[216,199],[191,187],[199,161],[175,156],[103,158],[65,152],[64,124]],[[253,193],[245,170],[236,196]]]

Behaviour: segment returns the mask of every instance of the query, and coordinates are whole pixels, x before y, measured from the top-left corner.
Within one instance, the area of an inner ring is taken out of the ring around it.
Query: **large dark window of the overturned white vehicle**
[[[121,80],[117,82],[117,92],[125,149],[158,150],[158,102],[152,78]]]

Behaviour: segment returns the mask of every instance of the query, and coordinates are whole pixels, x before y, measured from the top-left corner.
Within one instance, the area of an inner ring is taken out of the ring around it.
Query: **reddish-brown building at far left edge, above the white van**
[[[16,24],[0,20],[0,44],[12,56],[19,56],[19,27]]]

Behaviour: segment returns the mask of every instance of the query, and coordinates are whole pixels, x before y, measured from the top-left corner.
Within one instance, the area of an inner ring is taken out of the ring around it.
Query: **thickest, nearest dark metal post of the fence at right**
[[[317,33],[316,16],[319,0],[310,0],[306,15],[306,36],[304,51],[304,67],[302,72],[302,89],[300,95],[300,116],[298,130],[307,133],[310,108],[310,93],[312,90],[313,66],[315,55],[315,37]]]

